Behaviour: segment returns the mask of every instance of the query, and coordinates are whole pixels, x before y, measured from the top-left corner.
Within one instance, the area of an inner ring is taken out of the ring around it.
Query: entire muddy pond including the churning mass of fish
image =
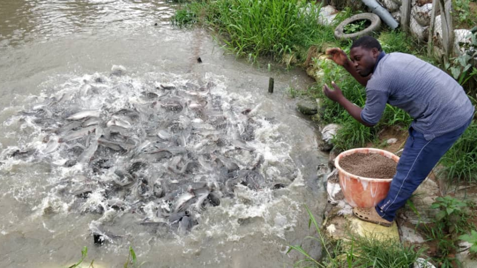
[[[141,267],[301,258],[285,253],[311,234],[305,206],[321,221],[327,155],[287,91],[313,81],[172,26],[176,8],[0,2],[1,267],[68,267],[84,246],[94,267],[129,246]]]

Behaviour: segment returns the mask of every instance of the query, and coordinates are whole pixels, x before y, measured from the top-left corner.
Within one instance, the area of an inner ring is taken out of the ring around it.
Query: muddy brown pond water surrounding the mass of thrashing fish
[[[318,151],[318,131],[295,111],[296,100],[287,94],[290,87],[306,88],[314,81],[301,70],[272,62],[270,71],[268,62],[262,62],[265,68],[251,66],[225,53],[207,31],[173,27],[175,9],[171,1],[156,0],[1,0],[1,152],[45,145],[44,132],[19,116],[32,103],[81,90],[85,80],[107,81],[112,67],[121,65],[127,71],[121,82],[138,92],[152,85],[214,82],[211,94],[222,100],[228,118],[241,118],[240,112],[250,109],[249,116],[261,124],[247,144],[263,156],[260,174],[270,181],[288,180],[280,173],[286,167],[296,178],[278,190],[239,187],[234,198],[222,196],[220,206],[204,211],[200,223],[181,236],[138,225],[126,212],[106,219],[74,209],[74,197],[64,199],[54,191],[77,172],[60,167],[64,159],[2,154],[0,267],[69,267],[81,258],[83,247],[88,247],[84,267],[92,260],[94,267],[124,267],[129,246],[138,262],[145,262],[142,268],[291,267],[302,256],[286,254],[288,245],[314,243],[311,251],[320,252],[318,243],[304,242],[313,235],[305,205],[320,221],[326,194],[316,167],[328,155]],[[273,94],[267,93],[270,77]],[[112,86],[105,83],[98,93]],[[122,99],[127,98],[117,96],[115,103]],[[244,131],[237,129],[240,122],[231,123],[237,124],[228,127]],[[102,200],[91,198],[85,205],[94,202]],[[121,237],[95,246],[91,224],[99,219]]]

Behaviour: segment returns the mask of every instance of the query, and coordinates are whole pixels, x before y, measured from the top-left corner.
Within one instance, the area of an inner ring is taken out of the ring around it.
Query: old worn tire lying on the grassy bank
[[[368,20],[371,21],[371,24],[366,27],[363,31],[357,31],[353,33],[344,33],[344,27],[354,21]],[[334,37],[337,39],[356,39],[363,35],[370,35],[373,31],[377,31],[381,26],[381,19],[378,15],[374,13],[361,13],[349,17],[348,19],[342,21],[336,29],[334,30]]]

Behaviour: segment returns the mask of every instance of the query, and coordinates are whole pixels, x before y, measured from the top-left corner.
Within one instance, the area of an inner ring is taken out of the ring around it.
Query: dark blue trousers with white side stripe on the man
[[[407,199],[471,122],[472,118],[462,127],[430,141],[425,140],[422,133],[410,127],[409,137],[396,167],[396,175],[391,181],[387,196],[376,205],[376,212],[384,219],[393,221],[396,211],[404,206]]]

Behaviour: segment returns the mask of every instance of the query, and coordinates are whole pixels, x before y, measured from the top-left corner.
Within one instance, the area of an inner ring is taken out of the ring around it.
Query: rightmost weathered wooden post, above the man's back
[[[452,2],[451,0],[439,0],[442,20],[442,46],[444,48],[444,63],[454,54],[454,27],[452,27]]]

